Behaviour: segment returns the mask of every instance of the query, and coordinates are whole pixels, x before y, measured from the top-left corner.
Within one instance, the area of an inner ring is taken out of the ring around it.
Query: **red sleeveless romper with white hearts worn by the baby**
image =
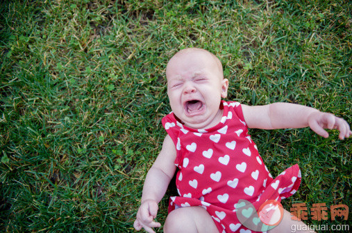
[[[240,223],[236,203],[244,199],[258,209],[267,200],[294,194],[301,183],[298,165],[272,178],[248,135],[239,102],[221,101],[221,122],[210,129],[192,129],[174,113],[162,125],[176,146],[176,187],[169,212],[178,207],[201,206],[212,216],[219,232],[253,232]]]

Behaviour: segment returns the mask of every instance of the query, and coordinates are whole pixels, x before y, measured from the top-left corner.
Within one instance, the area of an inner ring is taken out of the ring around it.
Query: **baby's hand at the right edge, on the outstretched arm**
[[[324,129],[338,129],[340,131],[339,138],[349,138],[352,135],[349,123],[342,118],[337,118],[331,113],[322,113],[320,111],[311,113],[308,117],[308,125],[312,131],[324,138],[328,138],[329,134]]]

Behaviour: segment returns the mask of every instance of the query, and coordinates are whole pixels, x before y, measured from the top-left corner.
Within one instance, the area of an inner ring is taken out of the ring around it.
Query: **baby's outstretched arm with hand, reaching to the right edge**
[[[289,129],[310,127],[312,131],[324,138],[328,138],[328,132],[324,129],[338,129],[340,139],[349,138],[352,134],[349,124],[342,118],[299,104],[281,102],[262,106],[242,104],[242,111],[249,128]]]

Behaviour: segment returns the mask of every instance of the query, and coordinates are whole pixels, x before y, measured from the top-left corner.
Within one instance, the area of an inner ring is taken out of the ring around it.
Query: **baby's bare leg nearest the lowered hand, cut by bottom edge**
[[[166,218],[164,232],[219,233],[210,214],[199,206],[182,207],[172,211]]]

